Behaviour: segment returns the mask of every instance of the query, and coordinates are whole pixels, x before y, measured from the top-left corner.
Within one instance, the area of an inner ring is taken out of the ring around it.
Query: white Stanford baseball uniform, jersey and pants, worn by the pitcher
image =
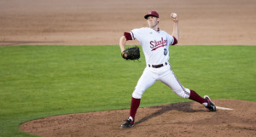
[[[169,45],[175,44],[175,38],[166,31],[160,29],[155,31],[149,27],[134,29],[130,31],[130,34],[132,40],[137,39],[141,43],[147,64],[132,93],[132,97],[141,99],[144,91],[159,80],[172,88],[177,95],[189,98],[189,88],[184,88],[178,82],[168,62]]]

